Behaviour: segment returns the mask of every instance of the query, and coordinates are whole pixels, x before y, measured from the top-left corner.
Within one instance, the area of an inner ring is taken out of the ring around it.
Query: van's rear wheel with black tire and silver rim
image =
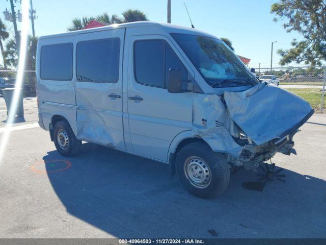
[[[58,152],[65,157],[72,157],[79,153],[82,141],[74,135],[67,121],[58,121],[53,127],[53,141]]]

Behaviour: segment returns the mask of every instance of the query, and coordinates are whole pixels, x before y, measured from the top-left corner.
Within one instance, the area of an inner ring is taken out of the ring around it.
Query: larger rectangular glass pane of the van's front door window
[[[164,88],[164,40],[134,43],[134,72],[138,83]]]

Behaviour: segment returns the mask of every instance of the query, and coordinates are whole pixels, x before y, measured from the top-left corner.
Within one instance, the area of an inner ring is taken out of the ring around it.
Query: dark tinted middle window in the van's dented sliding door
[[[76,76],[79,82],[116,83],[119,80],[120,39],[78,42]]]

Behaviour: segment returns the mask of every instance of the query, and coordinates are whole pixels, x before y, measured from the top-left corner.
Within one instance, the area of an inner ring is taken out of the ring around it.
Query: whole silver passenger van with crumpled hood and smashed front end
[[[231,167],[289,155],[313,114],[220,39],[149,21],[40,37],[37,93],[63,156],[88,141],[164,162],[199,197],[221,194]]]

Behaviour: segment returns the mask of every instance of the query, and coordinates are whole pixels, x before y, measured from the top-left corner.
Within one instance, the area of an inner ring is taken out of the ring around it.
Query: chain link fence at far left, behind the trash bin
[[[15,87],[16,75],[16,70],[0,70],[0,125],[7,119],[7,107],[2,90]],[[24,71],[22,93],[25,121],[38,120],[35,70]]]

